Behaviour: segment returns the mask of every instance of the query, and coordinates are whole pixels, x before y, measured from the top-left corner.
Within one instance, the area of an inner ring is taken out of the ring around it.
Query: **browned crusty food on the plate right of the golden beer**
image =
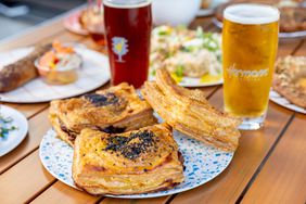
[[[306,58],[285,56],[278,59],[273,77],[273,89],[290,102],[306,109]]]

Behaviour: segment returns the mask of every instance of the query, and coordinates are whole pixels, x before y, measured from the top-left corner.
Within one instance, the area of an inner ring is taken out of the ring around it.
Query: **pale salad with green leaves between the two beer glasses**
[[[152,33],[151,74],[165,67],[180,81],[182,77],[209,80],[221,78],[220,35],[202,28],[160,26]]]

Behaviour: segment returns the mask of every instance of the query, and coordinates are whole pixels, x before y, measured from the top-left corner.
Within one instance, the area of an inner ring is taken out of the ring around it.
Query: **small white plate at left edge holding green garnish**
[[[22,113],[5,105],[0,105],[0,114],[3,117],[11,117],[13,120],[10,125],[17,127],[17,129],[9,131],[5,138],[0,138],[0,156],[3,156],[15,149],[25,139],[28,123]]]

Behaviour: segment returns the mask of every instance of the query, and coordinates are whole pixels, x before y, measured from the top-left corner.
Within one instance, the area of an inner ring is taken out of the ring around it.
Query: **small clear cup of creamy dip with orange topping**
[[[35,65],[46,82],[66,85],[77,80],[81,58],[73,47],[54,41],[52,49],[37,59]]]

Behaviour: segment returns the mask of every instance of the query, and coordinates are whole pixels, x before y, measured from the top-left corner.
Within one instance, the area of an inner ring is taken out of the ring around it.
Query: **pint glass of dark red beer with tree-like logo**
[[[148,78],[151,0],[103,0],[112,84],[139,88]]]

